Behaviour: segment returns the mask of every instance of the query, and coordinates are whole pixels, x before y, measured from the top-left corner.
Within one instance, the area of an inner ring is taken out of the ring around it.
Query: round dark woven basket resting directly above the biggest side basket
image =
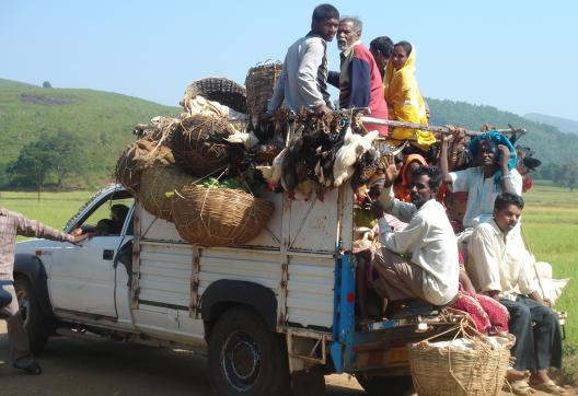
[[[227,145],[211,137],[227,138],[231,133],[233,127],[217,116],[197,114],[183,118],[171,139],[176,164],[197,176],[223,170],[229,164]]]

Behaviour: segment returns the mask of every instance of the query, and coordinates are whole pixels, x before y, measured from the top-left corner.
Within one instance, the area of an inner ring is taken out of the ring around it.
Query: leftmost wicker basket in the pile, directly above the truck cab
[[[144,168],[167,166],[174,162],[171,149],[149,139],[140,139],[120,154],[116,163],[115,178],[130,194],[137,195]]]

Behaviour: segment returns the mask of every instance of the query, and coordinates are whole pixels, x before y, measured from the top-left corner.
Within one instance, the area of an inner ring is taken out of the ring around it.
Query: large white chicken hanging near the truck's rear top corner
[[[371,149],[373,140],[379,136],[379,131],[373,130],[366,136],[355,135],[348,127],[342,148],[335,154],[333,164],[333,185],[339,187],[344,182],[349,179],[355,173],[355,163],[359,155]]]

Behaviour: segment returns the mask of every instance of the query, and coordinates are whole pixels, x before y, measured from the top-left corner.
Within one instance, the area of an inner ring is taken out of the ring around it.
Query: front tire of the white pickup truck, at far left
[[[30,349],[33,354],[41,354],[48,340],[48,335],[36,293],[30,280],[23,277],[14,280],[14,289],[16,291],[24,330],[28,335]]]

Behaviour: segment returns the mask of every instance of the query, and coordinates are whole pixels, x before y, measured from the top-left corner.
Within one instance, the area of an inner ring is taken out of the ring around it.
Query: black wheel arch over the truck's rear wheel
[[[254,282],[230,279],[212,282],[200,298],[200,315],[205,323],[213,323],[229,307],[239,304],[255,310],[267,328],[275,331],[277,298],[270,289]]]

